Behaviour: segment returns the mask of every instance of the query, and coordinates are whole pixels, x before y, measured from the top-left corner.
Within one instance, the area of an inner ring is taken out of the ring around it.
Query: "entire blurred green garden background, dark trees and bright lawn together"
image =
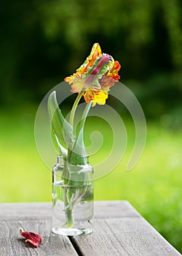
[[[121,81],[141,103],[148,134],[140,162],[127,172],[135,129],[123,113],[127,151],[115,170],[95,181],[95,200],[129,200],[182,252],[181,3],[1,1],[1,203],[51,200],[51,172],[34,142],[36,110],[99,42],[122,64]]]

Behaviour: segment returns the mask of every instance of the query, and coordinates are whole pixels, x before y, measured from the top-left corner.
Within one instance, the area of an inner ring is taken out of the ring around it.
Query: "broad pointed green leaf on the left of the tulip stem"
[[[65,144],[72,148],[75,141],[73,127],[66,121],[61,113],[56,99],[56,92],[53,91],[48,98],[48,112],[50,116],[52,134],[55,135],[60,144]]]

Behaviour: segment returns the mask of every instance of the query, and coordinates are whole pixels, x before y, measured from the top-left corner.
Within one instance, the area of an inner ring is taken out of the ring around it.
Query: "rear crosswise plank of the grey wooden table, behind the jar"
[[[2,203],[0,219],[21,217],[41,218],[52,215],[51,203]],[[95,201],[94,218],[139,217],[138,211],[127,201]]]

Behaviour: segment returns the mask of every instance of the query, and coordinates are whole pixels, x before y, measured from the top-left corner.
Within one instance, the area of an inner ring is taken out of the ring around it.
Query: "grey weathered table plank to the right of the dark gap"
[[[112,202],[111,202],[112,203]],[[120,202],[121,203],[121,202]],[[120,207],[122,210],[123,206]],[[107,209],[103,207],[103,211]],[[119,211],[119,208],[117,209]],[[108,213],[109,214],[109,213]],[[122,213],[123,214],[123,213]],[[121,215],[122,215],[121,214]],[[101,214],[102,215],[102,214]],[[116,214],[117,215],[117,214]],[[180,256],[181,254],[149,222],[135,217],[98,218],[94,233],[71,238],[80,255],[90,256]]]

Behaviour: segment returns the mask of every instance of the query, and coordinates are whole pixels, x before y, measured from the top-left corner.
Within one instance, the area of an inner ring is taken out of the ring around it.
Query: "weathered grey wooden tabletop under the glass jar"
[[[0,255],[181,255],[127,201],[96,201],[94,233],[67,237],[51,232],[51,203],[0,204]],[[44,236],[34,248],[18,228]]]

